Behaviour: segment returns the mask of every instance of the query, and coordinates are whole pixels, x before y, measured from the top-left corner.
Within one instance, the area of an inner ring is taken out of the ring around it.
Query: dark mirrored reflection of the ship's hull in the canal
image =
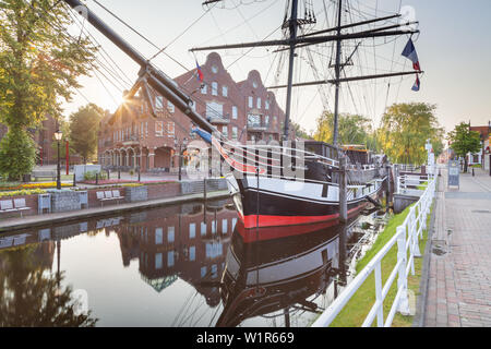
[[[290,312],[321,313],[311,298],[325,294],[334,276],[345,279],[346,253],[340,251],[346,251],[347,229],[337,222],[244,229],[239,222],[227,254],[225,308],[216,326],[238,326],[273,313],[288,326]],[[247,243],[254,234],[288,237]]]

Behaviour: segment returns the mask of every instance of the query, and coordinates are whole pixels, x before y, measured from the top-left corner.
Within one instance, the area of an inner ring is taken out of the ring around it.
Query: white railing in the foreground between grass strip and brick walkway
[[[408,216],[404,224],[397,227],[395,236],[313,323],[313,327],[327,327],[372,273],[374,273],[375,276],[375,303],[367,315],[362,327],[372,326],[375,317],[378,327],[391,327],[397,311],[403,314],[410,313],[407,277],[409,273],[415,275],[415,257],[421,256],[419,251],[419,239],[422,238],[422,232],[427,228],[427,218],[430,214],[434,192],[435,179],[430,176],[427,190],[421,195],[418,203],[410,207]],[[381,262],[395,244],[397,244],[398,251],[397,263],[383,285]],[[384,320],[383,302],[396,277],[397,294],[387,317]]]

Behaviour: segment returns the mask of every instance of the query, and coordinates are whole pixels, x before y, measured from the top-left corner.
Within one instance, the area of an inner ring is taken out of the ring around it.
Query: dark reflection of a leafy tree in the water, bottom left
[[[0,326],[2,327],[92,327],[91,312],[70,287],[60,287],[61,273],[51,273],[53,242],[20,246],[0,252]]]

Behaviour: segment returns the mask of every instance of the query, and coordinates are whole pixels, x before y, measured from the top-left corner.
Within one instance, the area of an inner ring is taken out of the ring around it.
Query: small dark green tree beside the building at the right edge
[[[467,172],[467,154],[478,153],[481,149],[481,137],[479,132],[470,131],[470,124],[460,122],[448,133],[448,141],[455,154],[464,157],[464,171]]]

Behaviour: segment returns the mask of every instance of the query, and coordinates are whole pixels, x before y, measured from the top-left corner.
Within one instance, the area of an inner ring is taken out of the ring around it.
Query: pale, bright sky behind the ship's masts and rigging
[[[164,48],[172,59],[160,53],[153,63],[167,75],[176,77],[195,68],[195,61],[204,63],[208,52],[191,53],[192,47],[258,41],[280,38],[278,29],[285,14],[285,0],[225,0],[213,9],[202,5],[202,0],[97,0],[124,20],[157,47]],[[491,81],[491,1],[489,0],[345,0],[352,11],[346,11],[344,22],[361,19],[356,15],[384,16],[398,12],[399,7],[412,9],[419,21],[420,34],[414,36],[415,46],[424,74],[421,89],[411,91],[415,77],[395,77],[376,82],[362,82],[342,87],[340,111],[357,112],[368,117],[374,127],[385,108],[394,103],[422,101],[436,106],[435,115],[446,131],[462,121],[472,125],[486,125],[491,120],[491,98],[488,84]],[[304,0],[301,3],[303,12]],[[309,2],[309,1],[307,1]],[[318,15],[316,31],[333,26],[335,8],[332,0],[310,0]],[[124,37],[142,55],[149,58],[157,49],[131,32],[101,9],[94,0],[85,4]],[[325,15],[327,13],[327,15]],[[386,24],[385,24],[386,25]],[[129,88],[137,76],[139,67],[107,40],[89,24],[85,31],[104,48],[100,61],[118,65],[121,79],[105,79],[100,73],[80,79],[83,87],[75,92],[73,100],[65,104],[67,116],[85,105],[87,100],[115,111],[122,99],[122,91]],[[81,29],[70,28],[76,36]],[[364,40],[354,56],[354,65],[346,74],[410,71],[410,62],[400,56],[408,37],[397,40]],[[355,43],[344,45],[344,58],[354,51]],[[250,70],[261,73],[266,86],[284,84],[286,69],[279,70],[282,56],[274,48],[256,48],[219,51],[224,65],[237,81],[247,79]],[[312,81],[332,76],[328,69],[330,47],[306,49],[296,59],[295,81]],[[107,56],[106,56],[107,55]],[[104,56],[104,57],[103,57]],[[285,58],[285,53],[283,56]],[[176,63],[178,61],[179,63]],[[285,68],[286,64],[283,65]],[[315,70],[311,67],[315,67]],[[104,70],[103,70],[104,73]],[[123,74],[124,73],[124,74]],[[105,73],[108,76],[108,73]],[[206,79],[206,77],[205,77]],[[322,88],[322,89],[320,89]],[[324,95],[324,98],[320,96]],[[306,130],[313,131],[316,119],[325,108],[333,107],[332,86],[295,88],[292,120]],[[280,105],[285,105],[285,92],[277,92]]]

